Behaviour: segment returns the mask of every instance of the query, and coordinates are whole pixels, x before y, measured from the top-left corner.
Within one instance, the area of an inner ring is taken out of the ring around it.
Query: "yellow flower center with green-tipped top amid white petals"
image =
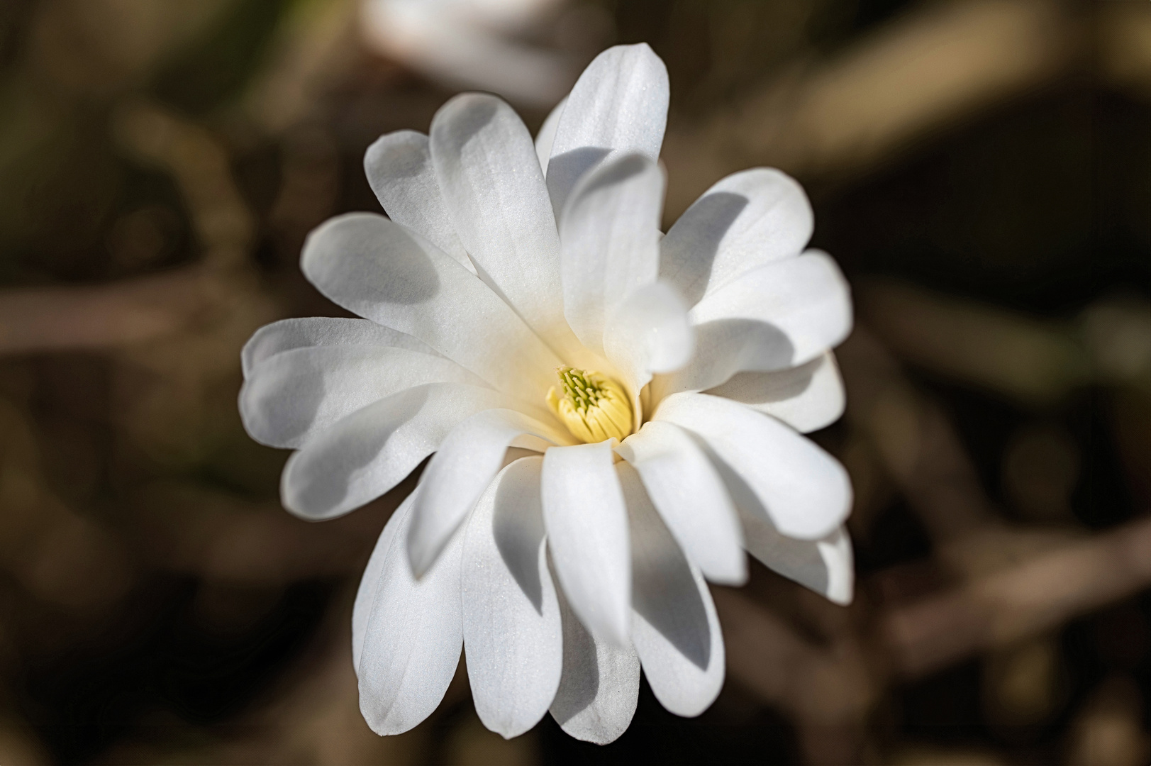
[[[559,390],[548,389],[548,407],[577,439],[595,443],[632,432],[627,393],[611,378],[574,367],[556,367]]]

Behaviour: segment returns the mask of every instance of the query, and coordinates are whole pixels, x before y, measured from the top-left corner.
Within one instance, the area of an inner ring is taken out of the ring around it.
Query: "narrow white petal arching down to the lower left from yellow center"
[[[525,435],[535,439],[524,442]],[[512,442],[542,452],[571,441],[558,428],[513,410],[486,410],[452,428],[420,477],[424,490],[416,501],[407,537],[407,555],[416,575],[422,575],[435,561],[500,471]]]

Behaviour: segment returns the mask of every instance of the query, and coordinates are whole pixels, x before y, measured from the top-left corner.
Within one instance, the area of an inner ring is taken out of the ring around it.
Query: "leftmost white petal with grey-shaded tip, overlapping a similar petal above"
[[[361,407],[429,382],[485,385],[439,355],[378,346],[297,348],[252,369],[239,390],[239,414],[260,443],[299,447]]]

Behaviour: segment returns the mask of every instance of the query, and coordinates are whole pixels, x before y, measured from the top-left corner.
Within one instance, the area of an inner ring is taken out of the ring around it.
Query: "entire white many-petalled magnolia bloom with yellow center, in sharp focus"
[[[296,515],[348,513],[432,455],[356,598],[380,734],[435,710],[462,647],[506,737],[550,710],[611,742],[641,667],[668,710],[699,714],[724,674],[704,581],[741,583],[745,549],[851,600],[851,486],[800,435],[843,410],[829,349],[847,286],[803,251],[811,210],[777,170],[719,181],[661,237],[666,109],[663,62],[620,46],[534,146],[477,93],[430,136],[383,136],[365,166],[390,220],[331,219],[303,253],[365,319],[280,321],[244,348],[244,423],[298,449]]]

